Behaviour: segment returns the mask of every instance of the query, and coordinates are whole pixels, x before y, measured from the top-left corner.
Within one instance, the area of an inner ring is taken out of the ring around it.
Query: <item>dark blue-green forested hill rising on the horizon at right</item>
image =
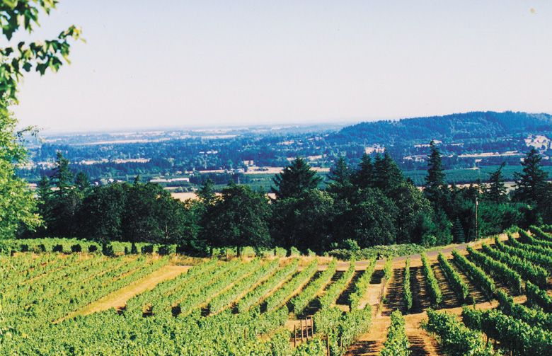
[[[515,134],[552,132],[552,115],[475,111],[444,116],[361,122],[331,134],[330,139],[360,140],[372,144],[402,144],[408,141],[447,142],[461,139],[488,139]]]

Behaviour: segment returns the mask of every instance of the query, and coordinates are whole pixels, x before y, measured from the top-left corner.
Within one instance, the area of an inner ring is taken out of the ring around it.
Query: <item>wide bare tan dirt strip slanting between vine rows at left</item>
[[[189,268],[190,266],[165,265],[141,280],[137,280],[122,289],[118,289],[116,292],[98,299],[96,302],[88,304],[88,306],[85,306],[84,309],[70,314],[65,318],[71,318],[76,315],[88,315],[96,313],[96,311],[108,310],[110,308],[123,308],[127,304],[128,299],[145,292],[146,290],[154,289],[156,285],[165,280],[176,278]]]

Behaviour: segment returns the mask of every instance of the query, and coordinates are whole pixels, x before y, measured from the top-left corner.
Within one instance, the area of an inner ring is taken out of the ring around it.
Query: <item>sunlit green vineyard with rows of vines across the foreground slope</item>
[[[358,261],[42,241],[0,256],[0,353],[550,355],[551,232]]]

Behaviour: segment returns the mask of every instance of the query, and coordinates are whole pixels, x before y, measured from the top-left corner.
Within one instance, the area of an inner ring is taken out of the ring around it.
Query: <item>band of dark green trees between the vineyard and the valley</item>
[[[305,159],[295,159],[273,178],[273,197],[229,183],[215,192],[202,183],[197,200],[180,202],[156,183],[91,185],[61,153],[52,176],[36,190],[42,226],[25,237],[79,237],[110,241],[176,243],[179,251],[204,255],[213,247],[299,248],[323,253],[393,243],[425,246],[471,241],[512,225],[550,221],[551,183],[542,157],[531,149],[507,193],[503,165],[485,183],[445,184],[439,148],[429,148],[423,189],[403,176],[387,153],[365,154],[357,166],[335,163],[326,188]],[[477,212],[477,216],[476,216]]]

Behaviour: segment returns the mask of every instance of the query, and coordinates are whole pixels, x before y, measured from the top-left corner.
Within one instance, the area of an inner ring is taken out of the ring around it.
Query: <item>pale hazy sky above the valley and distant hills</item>
[[[548,0],[61,0],[41,23],[87,41],[21,88],[50,130],[552,112]]]

